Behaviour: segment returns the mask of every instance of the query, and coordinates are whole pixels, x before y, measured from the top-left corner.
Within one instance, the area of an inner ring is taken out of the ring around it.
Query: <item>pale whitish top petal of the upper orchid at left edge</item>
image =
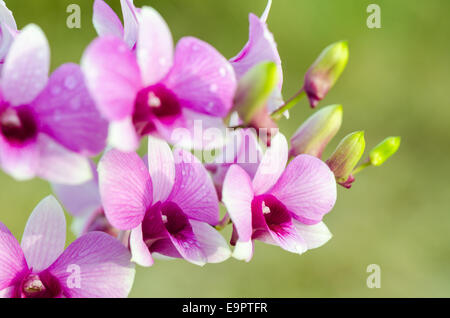
[[[15,38],[5,60],[1,78],[5,100],[13,106],[32,102],[47,85],[49,68],[47,38],[30,24]]]

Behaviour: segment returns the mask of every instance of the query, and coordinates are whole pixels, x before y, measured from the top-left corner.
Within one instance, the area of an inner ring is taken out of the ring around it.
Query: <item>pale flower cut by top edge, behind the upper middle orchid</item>
[[[139,9],[133,0],[120,0],[124,25],[117,14],[103,0],[95,0],[93,23],[99,36],[113,35],[123,39],[130,49],[134,49],[138,37]]]

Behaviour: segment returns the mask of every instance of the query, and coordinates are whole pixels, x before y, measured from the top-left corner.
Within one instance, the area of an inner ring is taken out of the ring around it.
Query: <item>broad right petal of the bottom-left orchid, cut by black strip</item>
[[[59,280],[66,297],[124,298],[135,275],[130,258],[119,241],[91,232],[69,245],[48,271]]]

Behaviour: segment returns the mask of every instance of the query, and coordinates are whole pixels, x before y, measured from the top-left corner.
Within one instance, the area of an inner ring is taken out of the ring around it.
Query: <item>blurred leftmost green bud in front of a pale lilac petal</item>
[[[239,113],[244,124],[249,124],[267,106],[277,84],[278,70],[273,62],[257,64],[244,74],[239,81],[234,103],[234,110]]]

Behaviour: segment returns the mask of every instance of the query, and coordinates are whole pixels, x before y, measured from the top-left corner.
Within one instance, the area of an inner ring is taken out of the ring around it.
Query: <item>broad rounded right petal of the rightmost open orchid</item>
[[[336,181],[330,168],[316,157],[300,155],[288,165],[270,191],[293,217],[316,224],[336,202]]]

